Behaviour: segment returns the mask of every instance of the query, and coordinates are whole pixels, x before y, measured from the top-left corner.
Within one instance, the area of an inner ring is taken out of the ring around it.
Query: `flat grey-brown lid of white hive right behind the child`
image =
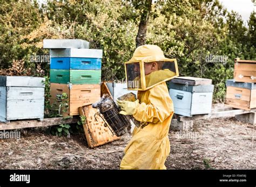
[[[186,85],[208,85],[212,84],[212,80],[208,78],[198,77],[176,77],[171,80],[173,83]]]

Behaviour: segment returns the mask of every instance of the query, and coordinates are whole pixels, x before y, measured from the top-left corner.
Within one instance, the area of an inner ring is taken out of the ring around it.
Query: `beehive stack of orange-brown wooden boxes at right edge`
[[[226,81],[226,104],[244,110],[256,108],[256,61],[234,62],[234,79]]]

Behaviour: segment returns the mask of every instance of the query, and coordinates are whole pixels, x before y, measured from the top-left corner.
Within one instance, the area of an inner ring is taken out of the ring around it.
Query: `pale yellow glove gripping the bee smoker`
[[[127,100],[118,100],[117,104],[121,107],[122,111],[120,111],[120,114],[123,115],[132,115],[134,113],[134,110],[139,106],[139,99],[137,99],[134,102],[129,102]]]

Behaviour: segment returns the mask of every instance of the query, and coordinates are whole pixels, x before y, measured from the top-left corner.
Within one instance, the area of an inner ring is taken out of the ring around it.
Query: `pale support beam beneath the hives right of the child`
[[[256,112],[256,108],[251,110],[242,110],[242,109],[234,109],[232,107],[224,107],[223,109],[213,110],[211,114],[200,114],[200,115],[194,115],[192,117],[180,116],[175,114],[174,118],[178,119],[178,121],[190,121],[195,119],[234,117],[239,114],[252,113],[252,112]]]

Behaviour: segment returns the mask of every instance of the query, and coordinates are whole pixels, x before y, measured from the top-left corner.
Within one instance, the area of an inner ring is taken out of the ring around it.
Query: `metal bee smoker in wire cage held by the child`
[[[129,120],[124,115],[119,114],[121,109],[114,103],[109,94],[104,94],[99,102],[92,104],[92,107],[99,109],[95,117],[96,115],[101,117],[113,135],[122,136],[129,132],[131,128]]]

